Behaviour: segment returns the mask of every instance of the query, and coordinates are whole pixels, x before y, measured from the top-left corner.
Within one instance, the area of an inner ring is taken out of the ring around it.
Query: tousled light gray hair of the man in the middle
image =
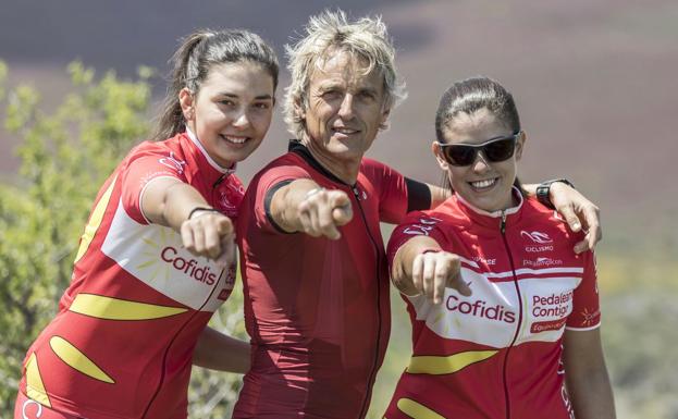
[[[343,11],[325,10],[310,17],[304,38],[285,46],[292,83],[286,89],[283,114],[287,128],[296,138],[301,138],[306,132],[306,121],[297,108],[306,111],[311,75],[324,59],[337,51],[346,51],[365,60],[368,64],[366,74],[374,69],[381,72],[386,110],[392,110],[407,97],[405,83],[395,70],[395,48],[381,17],[348,22]]]

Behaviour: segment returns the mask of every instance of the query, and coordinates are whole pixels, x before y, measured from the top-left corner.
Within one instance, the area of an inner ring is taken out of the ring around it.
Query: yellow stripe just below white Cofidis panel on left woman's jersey
[[[187,311],[185,308],[156,306],[94,294],[78,294],[70,311],[106,320],[152,320]]]

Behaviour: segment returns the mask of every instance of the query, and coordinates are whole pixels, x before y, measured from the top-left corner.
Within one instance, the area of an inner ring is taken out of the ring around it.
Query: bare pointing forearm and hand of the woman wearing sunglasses
[[[391,278],[403,294],[424,294],[434,304],[440,304],[445,287],[456,288],[463,295],[471,295],[471,289],[461,281],[459,267],[457,255],[443,251],[431,237],[416,236],[396,251]]]

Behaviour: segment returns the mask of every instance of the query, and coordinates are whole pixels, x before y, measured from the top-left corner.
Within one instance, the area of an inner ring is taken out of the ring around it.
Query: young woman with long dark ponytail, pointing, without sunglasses
[[[59,313],[28,349],[14,418],[186,418],[192,363],[249,368],[207,328],[235,281],[235,176],[272,118],[278,59],[246,30],[198,30],[151,140],[101,187]]]

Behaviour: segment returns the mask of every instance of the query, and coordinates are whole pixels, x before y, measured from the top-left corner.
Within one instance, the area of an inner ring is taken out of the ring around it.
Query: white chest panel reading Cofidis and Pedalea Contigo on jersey
[[[407,298],[415,308],[417,320],[424,321],[428,329],[444,338],[502,348],[511,344],[519,328],[514,345],[556,342],[572,311],[572,293],[581,283],[582,270],[519,271],[520,294],[515,282],[509,280],[513,276],[510,271],[482,274],[463,267],[461,278],[469,284],[472,295],[465,297],[446,288],[440,305],[432,304],[423,295]],[[540,274],[550,276],[540,278]],[[489,278],[505,280],[491,281]]]

